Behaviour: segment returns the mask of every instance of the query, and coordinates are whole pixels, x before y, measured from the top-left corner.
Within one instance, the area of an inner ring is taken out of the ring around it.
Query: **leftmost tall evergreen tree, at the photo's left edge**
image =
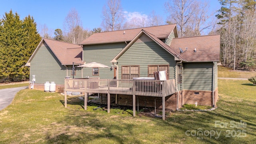
[[[20,16],[15,13],[5,13],[2,20],[2,31],[0,35],[0,77],[9,77],[14,80],[18,76],[18,71],[23,57],[22,49],[22,22]]]

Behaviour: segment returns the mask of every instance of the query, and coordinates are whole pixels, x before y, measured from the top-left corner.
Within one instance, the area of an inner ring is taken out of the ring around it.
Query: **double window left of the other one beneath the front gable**
[[[140,76],[140,66],[122,66],[122,79],[138,78]]]

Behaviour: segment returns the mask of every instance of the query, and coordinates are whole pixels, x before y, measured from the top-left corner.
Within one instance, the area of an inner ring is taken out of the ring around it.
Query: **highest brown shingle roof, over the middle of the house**
[[[87,44],[104,44],[115,42],[129,42],[131,41],[142,29],[154,34],[157,38],[168,38],[170,33],[176,28],[176,24],[168,24],[163,26],[152,26],[146,28],[135,28],[128,30],[117,30],[111,32],[94,33],[92,36],[82,41],[82,45]]]

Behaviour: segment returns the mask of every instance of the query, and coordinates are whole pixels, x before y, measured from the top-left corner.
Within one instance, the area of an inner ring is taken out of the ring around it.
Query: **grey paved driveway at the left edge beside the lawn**
[[[28,88],[28,86],[22,86],[18,88],[6,88],[0,90],[0,110],[6,108],[11,104],[14,96],[20,90]]]

